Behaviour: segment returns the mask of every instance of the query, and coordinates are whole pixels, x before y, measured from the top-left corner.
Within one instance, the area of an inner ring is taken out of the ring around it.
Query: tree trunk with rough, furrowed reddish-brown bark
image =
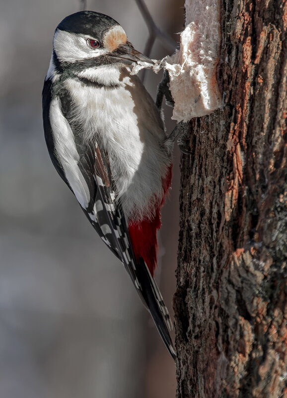
[[[287,397],[287,2],[221,8],[224,105],[181,164],[177,397]]]

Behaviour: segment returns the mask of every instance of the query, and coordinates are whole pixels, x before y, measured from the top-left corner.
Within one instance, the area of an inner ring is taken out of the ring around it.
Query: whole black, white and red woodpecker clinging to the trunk
[[[137,76],[121,25],[94,11],[57,26],[43,88],[51,160],[87,219],[121,260],[171,356],[172,322],[153,279],[160,209],[171,180],[172,141]]]

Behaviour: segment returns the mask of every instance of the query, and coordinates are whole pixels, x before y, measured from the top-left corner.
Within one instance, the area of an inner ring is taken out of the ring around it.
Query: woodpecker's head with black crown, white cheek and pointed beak
[[[135,50],[121,25],[108,15],[80,11],[57,26],[54,52],[60,63],[87,62],[92,67],[153,62]]]

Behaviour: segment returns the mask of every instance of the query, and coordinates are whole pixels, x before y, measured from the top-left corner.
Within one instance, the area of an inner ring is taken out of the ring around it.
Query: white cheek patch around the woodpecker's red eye
[[[88,37],[57,30],[54,35],[54,50],[62,62],[82,61],[107,53],[103,48],[92,49],[87,44]]]

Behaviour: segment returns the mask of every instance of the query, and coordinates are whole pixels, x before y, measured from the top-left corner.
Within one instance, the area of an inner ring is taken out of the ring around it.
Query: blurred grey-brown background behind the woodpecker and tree
[[[183,1],[146,0],[178,41]],[[90,0],[144,51],[133,0]],[[44,141],[41,91],[53,33],[77,0],[0,4],[0,397],[171,398],[175,367],[120,262],[84,217]],[[157,40],[151,58],[170,54]],[[148,71],[155,98],[160,76]],[[168,131],[171,109],[165,108]],[[178,153],[163,210],[156,279],[172,313],[178,240]]]

